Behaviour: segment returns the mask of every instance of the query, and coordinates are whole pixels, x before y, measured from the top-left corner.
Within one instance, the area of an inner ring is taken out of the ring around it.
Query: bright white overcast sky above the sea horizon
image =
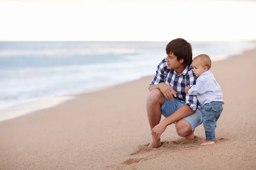
[[[0,41],[256,40],[255,1],[0,0]]]

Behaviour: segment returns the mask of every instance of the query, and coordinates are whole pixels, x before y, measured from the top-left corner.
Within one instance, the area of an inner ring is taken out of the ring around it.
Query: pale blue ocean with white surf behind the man
[[[0,110],[153,75],[167,44],[0,42]],[[213,61],[256,47],[244,41],[191,44],[193,57],[204,53]]]

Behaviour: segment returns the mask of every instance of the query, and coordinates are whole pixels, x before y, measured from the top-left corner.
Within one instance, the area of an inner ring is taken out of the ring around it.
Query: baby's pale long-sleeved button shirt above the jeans
[[[208,70],[201,74],[189,89],[189,95],[196,95],[201,107],[209,102],[222,102],[221,87],[213,74]]]

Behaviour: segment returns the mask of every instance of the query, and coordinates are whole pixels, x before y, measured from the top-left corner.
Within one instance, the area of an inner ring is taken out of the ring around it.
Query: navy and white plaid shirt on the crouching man
[[[187,85],[195,85],[197,77],[193,73],[192,65],[187,65],[185,70],[177,75],[175,70],[169,70],[167,64],[163,59],[157,66],[157,71],[154,79],[150,85],[157,85],[161,82],[169,82],[173,90],[177,91],[176,99],[184,100],[185,104],[192,108],[194,111],[198,109],[198,99],[196,96],[186,94],[185,88]]]

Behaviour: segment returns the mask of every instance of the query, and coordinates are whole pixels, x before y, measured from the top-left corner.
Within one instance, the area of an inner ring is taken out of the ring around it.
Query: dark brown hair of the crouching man
[[[177,56],[177,60],[184,59],[184,65],[190,65],[192,63],[192,47],[189,42],[182,38],[177,38],[170,41],[166,45],[166,54],[173,53]]]

